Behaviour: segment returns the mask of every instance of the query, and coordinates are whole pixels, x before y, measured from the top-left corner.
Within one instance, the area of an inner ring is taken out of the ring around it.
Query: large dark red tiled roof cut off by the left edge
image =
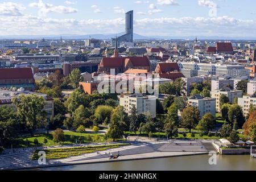
[[[34,79],[31,68],[0,68],[0,80]]]

